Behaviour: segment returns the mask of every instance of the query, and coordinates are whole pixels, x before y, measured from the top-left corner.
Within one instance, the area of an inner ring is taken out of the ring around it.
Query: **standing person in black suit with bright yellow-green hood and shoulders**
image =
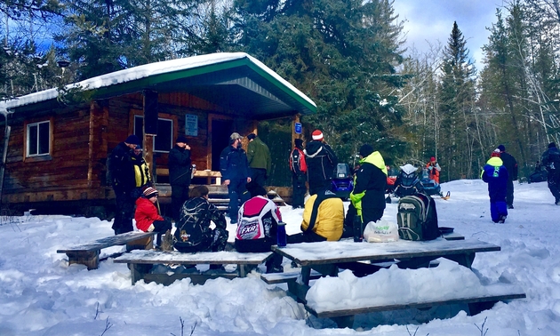
[[[376,222],[385,211],[385,188],[387,187],[387,166],[380,152],[364,144],[360,148],[360,169],[354,178],[354,190],[350,201],[365,225]],[[349,210],[348,210],[349,212]]]

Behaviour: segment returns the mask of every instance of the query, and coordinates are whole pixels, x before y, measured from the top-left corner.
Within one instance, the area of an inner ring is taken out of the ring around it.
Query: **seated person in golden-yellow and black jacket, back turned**
[[[344,226],[344,204],[332,191],[310,196],[305,203],[301,233],[288,236],[288,244],[337,241]]]

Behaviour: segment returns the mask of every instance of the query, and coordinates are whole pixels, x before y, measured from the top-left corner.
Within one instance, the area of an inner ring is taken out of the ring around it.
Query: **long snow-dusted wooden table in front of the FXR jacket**
[[[252,267],[258,266],[272,257],[272,252],[260,253],[240,253],[240,252],[159,252],[159,251],[133,251],[126,253],[114,260],[116,263],[126,263],[131,269],[132,284],[144,280],[146,283],[156,282],[157,284],[172,284],[175,280],[189,277],[193,284],[204,284],[208,279],[226,277],[229,279],[245,277]],[[237,265],[235,273],[173,273],[157,274],[149,273],[149,270],[156,264],[174,265]]]

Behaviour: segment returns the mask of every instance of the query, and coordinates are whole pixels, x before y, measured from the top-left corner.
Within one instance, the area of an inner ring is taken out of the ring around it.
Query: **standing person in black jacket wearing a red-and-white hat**
[[[309,195],[316,195],[331,189],[332,174],[338,160],[331,146],[324,142],[323,132],[313,131],[312,138],[304,153],[308,164]]]

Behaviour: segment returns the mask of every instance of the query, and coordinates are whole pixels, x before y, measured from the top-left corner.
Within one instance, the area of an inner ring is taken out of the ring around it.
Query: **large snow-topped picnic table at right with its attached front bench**
[[[426,308],[443,304],[467,303],[469,313],[477,314],[484,308],[492,308],[499,300],[524,298],[524,292],[489,292],[484,296],[458,297],[452,300],[429,302],[403,302],[391,306],[372,306],[361,308],[345,308],[332,311],[317,312],[307,304],[306,295],[310,288],[311,271],[315,270],[322,276],[338,276],[339,266],[361,261],[369,263],[396,262],[402,268],[428,267],[431,260],[446,258],[471,268],[477,252],[500,251],[500,246],[475,239],[446,240],[437,238],[432,241],[413,242],[399,240],[392,243],[355,243],[353,241],[318,242],[288,244],[285,247],[273,246],[272,250],[295,261],[301,266],[297,281],[289,281],[288,292],[304,303],[305,308],[317,317],[330,317],[340,327],[351,327],[356,314],[373,311],[393,310],[399,308]],[[404,265],[404,267],[403,267]]]

